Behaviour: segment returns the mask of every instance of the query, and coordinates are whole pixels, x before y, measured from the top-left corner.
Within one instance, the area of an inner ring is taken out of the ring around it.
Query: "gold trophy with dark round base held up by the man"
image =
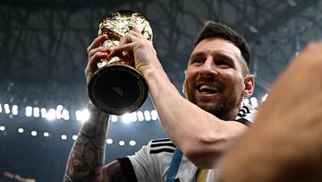
[[[152,41],[152,29],[140,13],[117,11],[99,24],[98,36],[106,34],[108,39],[102,46],[114,48],[119,40],[136,27],[143,36]],[[123,52],[123,57],[129,56]],[[133,63],[114,56],[97,63],[98,70],[89,79],[89,99],[108,114],[122,115],[140,108],[148,96],[148,84]]]

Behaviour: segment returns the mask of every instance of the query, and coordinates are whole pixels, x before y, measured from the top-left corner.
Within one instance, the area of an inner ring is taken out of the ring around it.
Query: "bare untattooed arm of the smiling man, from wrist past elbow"
[[[215,163],[231,139],[241,134],[240,128],[229,128],[229,123],[185,100],[161,70],[146,78],[165,133],[196,165],[206,168]]]

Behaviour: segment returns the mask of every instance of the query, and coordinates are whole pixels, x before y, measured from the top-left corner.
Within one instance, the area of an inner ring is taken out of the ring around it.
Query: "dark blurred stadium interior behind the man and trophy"
[[[72,135],[81,126],[75,111],[86,108],[89,100],[83,75],[86,48],[97,36],[99,22],[122,9],[147,17],[157,55],[179,91],[192,42],[207,20],[229,24],[250,42],[254,97],[259,101],[290,58],[322,37],[318,0],[1,0],[0,126],[5,129],[0,131],[0,181],[5,180],[4,171],[37,181],[62,181]],[[17,105],[18,115],[5,113],[4,104],[10,109]],[[59,104],[70,111],[69,120],[25,116],[27,106],[48,109]],[[140,108],[152,109],[149,99]],[[165,137],[157,120],[125,124],[118,119],[109,127],[114,143],[107,145],[106,162]],[[17,132],[20,127],[22,134]],[[31,136],[32,130],[38,135]],[[45,131],[49,137],[42,135]],[[130,140],[136,145],[130,146]]]

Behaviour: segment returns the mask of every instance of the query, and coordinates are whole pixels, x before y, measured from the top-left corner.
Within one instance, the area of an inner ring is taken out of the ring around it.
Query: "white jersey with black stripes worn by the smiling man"
[[[248,125],[255,115],[256,109],[247,105],[241,108],[235,120]],[[153,140],[134,155],[118,160],[127,181],[165,181],[174,150],[175,145],[168,138]],[[199,169],[183,155],[174,182],[195,182],[198,171]],[[216,169],[208,170],[207,181],[214,181],[215,174]]]

